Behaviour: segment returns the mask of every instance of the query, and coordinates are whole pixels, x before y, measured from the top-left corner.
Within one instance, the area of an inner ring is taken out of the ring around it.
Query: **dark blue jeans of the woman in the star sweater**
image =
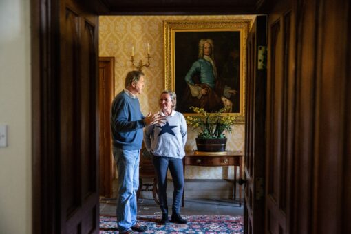
[[[162,213],[168,215],[167,170],[169,169],[174,185],[172,213],[179,214],[184,189],[183,160],[180,158],[153,156],[152,161],[158,178],[158,199],[160,200]]]

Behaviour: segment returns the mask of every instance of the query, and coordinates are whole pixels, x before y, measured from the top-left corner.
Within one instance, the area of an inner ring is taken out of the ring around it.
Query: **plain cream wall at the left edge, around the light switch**
[[[30,1],[0,1],[0,233],[32,233]]]

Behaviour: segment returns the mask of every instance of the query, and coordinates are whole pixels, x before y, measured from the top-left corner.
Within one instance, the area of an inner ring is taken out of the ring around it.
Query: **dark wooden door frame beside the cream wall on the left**
[[[50,3],[52,3],[50,1]],[[55,233],[59,146],[59,37],[58,4],[30,3],[32,62],[32,233]]]

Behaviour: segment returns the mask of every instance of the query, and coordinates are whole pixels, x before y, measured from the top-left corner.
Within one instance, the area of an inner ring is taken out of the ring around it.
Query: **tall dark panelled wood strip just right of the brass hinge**
[[[278,4],[268,17],[265,233],[289,233],[294,136],[292,11]]]

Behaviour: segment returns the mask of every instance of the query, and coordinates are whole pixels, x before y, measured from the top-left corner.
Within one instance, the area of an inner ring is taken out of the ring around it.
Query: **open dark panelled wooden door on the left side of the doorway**
[[[98,233],[98,17],[60,1],[60,228]]]

